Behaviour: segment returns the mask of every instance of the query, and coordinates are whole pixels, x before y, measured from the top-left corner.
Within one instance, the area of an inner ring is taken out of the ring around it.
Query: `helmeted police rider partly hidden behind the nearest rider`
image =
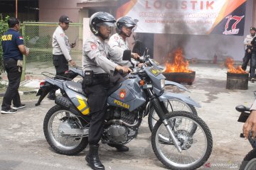
[[[130,37],[132,34],[132,30],[134,27],[136,27],[136,23],[134,20],[129,16],[123,16],[117,20],[117,33],[112,35],[109,40],[109,45],[112,47],[115,51],[119,52],[120,54],[123,54],[124,50],[129,50],[129,44],[127,42],[127,38]],[[119,55],[120,56],[120,55]],[[122,56],[122,55],[121,55]],[[137,62],[134,59],[138,59],[139,55],[137,53],[132,52],[132,64],[134,66],[141,67],[142,63]],[[122,57],[115,58],[112,57],[112,60],[116,63],[118,63],[120,60],[122,60]],[[126,61],[123,61],[124,64]],[[129,66],[129,63],[126,64]]]

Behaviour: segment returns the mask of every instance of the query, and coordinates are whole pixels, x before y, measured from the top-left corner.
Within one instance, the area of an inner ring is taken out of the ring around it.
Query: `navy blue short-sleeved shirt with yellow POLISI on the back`
[[[23,45],[23,37],[18,31],[10,28],[1,37],[1,45],[4,52],[4,60],[23,60],[23,55],[18,49],[18,45]]]

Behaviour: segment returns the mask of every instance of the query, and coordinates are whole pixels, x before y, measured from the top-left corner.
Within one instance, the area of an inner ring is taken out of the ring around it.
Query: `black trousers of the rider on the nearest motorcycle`
[[[83,87],[90,106],[90,128],[88,142],[96,145],[100,142],[103,132],[103,121],[107,106],[107,91],[110,89],[110,78],[93,79],[91,85]]]

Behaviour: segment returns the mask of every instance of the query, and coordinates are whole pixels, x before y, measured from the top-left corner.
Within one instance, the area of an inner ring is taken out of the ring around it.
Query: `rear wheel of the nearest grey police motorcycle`
[[[80,129],[87,123],[71,111],[55,105],[50,108],[43,121],[43,132],[50,147],[58,154],[75,155],[88,145],[88,137],[63,135],[60,128]]]

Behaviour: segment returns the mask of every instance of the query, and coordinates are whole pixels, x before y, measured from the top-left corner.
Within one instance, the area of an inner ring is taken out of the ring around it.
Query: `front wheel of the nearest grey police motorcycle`
[[[174,120],[181,119],[181,125],[176,127]],[[173,170],[198,169],[210,157],[213,149],[213,138],[206,123],[197,115],[185,111],[175,111],[166,114],[171,129],[182,152],[178,152],[164,123],[158,121],[154,126],[151,145],[154,154],[167,168]],[[196,125],[196,132],[191,133],[191,126]]]

